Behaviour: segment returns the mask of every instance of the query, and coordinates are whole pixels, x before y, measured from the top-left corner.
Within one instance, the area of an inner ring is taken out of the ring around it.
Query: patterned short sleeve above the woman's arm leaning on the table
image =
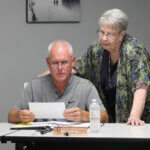
[[[137,49],[139,47],[136,47]],[[133,91],[148,86],[150,82],[150,58],[145,55],[146,48],[140,47],[136,55],[132,56],[131,62],[131,83]],[[148,53],[147,53],[148,54]],[[130,56],[131,57],[131,56]]]

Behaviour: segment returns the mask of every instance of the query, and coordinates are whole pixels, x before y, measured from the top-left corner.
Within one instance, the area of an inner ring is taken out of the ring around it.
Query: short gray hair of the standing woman
[[[119,32],[126,30],[128,26],[128,16],[119,9],[105,11],[99,18],[99,25],[119,27]]]

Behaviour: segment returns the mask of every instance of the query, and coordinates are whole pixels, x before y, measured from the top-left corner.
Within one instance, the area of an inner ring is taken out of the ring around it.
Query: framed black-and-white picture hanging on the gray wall
[[[80,0],[26,0],[26,22],[80,22]]]

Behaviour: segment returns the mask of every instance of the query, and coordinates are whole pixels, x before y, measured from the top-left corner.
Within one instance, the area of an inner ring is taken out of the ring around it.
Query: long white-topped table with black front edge
[[[138,146],[138,148],[150,148],[150,124],[145,126],[128,126],[126,124],[108,123],[101,127],[101,131],[96,134],[88,134],[87,136],[53,136],[53,132],[41,134],[35,130],[18,130],[15,132],[9,131],[9,124],[6,126],[7,133],[6,141],[15,143],[40,143],[36,150],[43,149],[44,145],[55,147],[55,149],[70,149],[71,147],[85,148],[101,147],[110,148],[130,148]],[[46,146],[49,148],[49,146]],[[66,147],[67,146],[67,147]],[[39,148],[39,149],[38,149]],[[46,148],[44,147],[44,150]]]

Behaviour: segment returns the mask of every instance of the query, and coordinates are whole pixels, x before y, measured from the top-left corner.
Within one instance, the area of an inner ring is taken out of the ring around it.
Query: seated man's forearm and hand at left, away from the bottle
[[[28,123],[32,122],[35,119],[35,116],[29,110],[17,110],[11,109],[8,114],[8,122],[10,123]]]

